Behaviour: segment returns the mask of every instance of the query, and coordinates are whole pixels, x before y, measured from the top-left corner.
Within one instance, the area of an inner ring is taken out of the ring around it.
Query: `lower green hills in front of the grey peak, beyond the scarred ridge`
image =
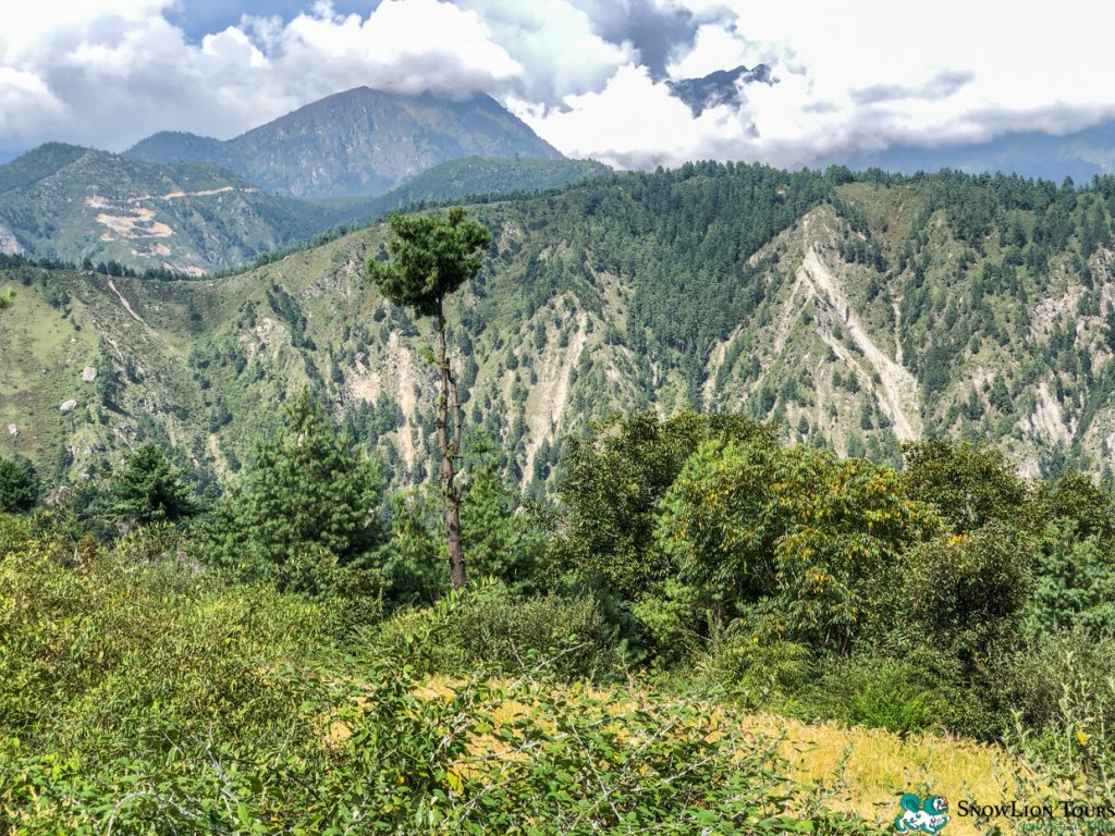
[[[610,172],[562,157],[465,157],[380,197],[313,204],[209,163],[143,163],[56,143],[0,166],[0,253],[200,275],[415,202],[537,192]]]

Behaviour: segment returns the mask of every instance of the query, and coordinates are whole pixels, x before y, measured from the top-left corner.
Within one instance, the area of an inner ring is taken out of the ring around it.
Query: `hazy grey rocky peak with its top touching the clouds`
[[[151,163],[210,162],[293,197],[375,196],[466,156],[561,155],[491,96],[401,96],[368,87],[314,101],[220,142],[151,136],[126,154]]]

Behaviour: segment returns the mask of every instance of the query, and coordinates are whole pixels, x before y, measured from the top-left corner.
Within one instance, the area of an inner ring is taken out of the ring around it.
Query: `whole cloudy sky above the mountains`
[[[0,1],[0,153],[230,138],[360,85],[495,97],[573,157],[815,165],[1115,118],[1094,0]],[[668,81],[766,64],[694,116]]]

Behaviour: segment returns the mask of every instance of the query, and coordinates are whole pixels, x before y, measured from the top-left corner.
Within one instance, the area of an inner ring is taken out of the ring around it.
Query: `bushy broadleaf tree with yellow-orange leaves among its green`
[[[762,441],[706,441],[662,499],[661,552],[716,633],[845,647],[871,594],[935,516],[898,475],[862,459]]]

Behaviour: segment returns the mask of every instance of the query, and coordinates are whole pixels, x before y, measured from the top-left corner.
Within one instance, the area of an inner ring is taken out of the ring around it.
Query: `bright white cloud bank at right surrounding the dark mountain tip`
[[[618,69],[563,108],[521,108],[560,149],[627,166],[692,158],[823,165],[895,145],[1069,133],[1115,116],[1104,41],[1115,10],[1065,0],[1056,13],[939,0],[679,0],[699,22],[672,78],[774,67],[738,108],[694,117],[651,74]],[[1080,21],[1088,26],[1082,27]]]

